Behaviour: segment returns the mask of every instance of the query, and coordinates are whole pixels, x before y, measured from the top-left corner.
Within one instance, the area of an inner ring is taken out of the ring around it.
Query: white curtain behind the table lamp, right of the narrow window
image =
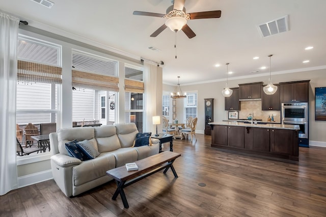
[[[145,132],[154,133],[155,126],[153,125],[153,116],[159,116],[156,114],[156,83],[157,83],[157,65],[150,64],[144,61],[144,80],[145,80]]]

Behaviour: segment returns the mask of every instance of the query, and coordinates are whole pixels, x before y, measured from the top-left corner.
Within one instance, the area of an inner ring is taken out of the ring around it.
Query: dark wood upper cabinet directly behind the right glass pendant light
[[[267,95],[261,89],[261,110],[268,111],[268,110],[281,110],[281,96],[280,96],[280,85],[277,86],[277,91],[275,94]]]

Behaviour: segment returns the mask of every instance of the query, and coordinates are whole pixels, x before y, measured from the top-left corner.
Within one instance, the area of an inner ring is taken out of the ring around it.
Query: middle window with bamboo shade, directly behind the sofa
[[[106,125],[115,121],[117,62],[79,50],[72,52],[73,125]],[[106,103],[110,101],[110,103]]]

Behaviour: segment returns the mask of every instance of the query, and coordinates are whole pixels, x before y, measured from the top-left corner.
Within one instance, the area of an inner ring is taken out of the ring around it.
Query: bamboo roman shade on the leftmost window
[[[22,82],[38,82],[48,84],[61,84],[62,68],[40,63],[18,60],[17,80]]]

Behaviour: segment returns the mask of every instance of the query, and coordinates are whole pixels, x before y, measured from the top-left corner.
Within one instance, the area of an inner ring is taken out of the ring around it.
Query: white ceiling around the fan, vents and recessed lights
[[[170,0],[52,2],[55,5],[48,9],[31,0],[0,0],[0,10],[36,28],[112,47],[132,57],[163,61],[163,80],[168,84],[176,84],[177,76],[183,85],[225,79],[227,62],[233,72],[229,79],[267,75],[269,54],[274,55],[272,76],[326,68],[325,0],[186,0],[187,13],[221,10],[222,16],[188,20],[197,36],[188,39],[183,32],[177,33],[177,59],[174,32],[166,29],[150,37],[165,18],[132,15],[133,11],[165,14],[172,5]],[[257,25],[285,15],[289,16],[289,32],[261,37]],[[314,48],[305,50],[307,46]],[[310,62],[304,64],[304,60]],[[216,68],[215,64],[221,66]],[[266,69],[260,69],[262,66]]]

